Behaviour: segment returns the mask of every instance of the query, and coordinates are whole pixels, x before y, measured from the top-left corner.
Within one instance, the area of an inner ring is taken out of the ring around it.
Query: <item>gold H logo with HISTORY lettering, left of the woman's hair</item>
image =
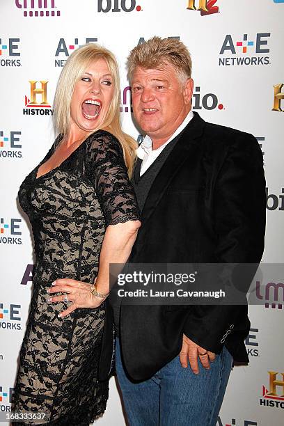
[[[24,97],[24,116],[52,116],[52,106],[47,102],[47,80],[29,80],[30,98]]]

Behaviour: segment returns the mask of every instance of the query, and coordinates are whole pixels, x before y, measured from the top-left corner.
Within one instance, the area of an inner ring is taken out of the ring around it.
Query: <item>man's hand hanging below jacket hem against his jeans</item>
[[[210,361],[214,361],[216,355],[213,352],[209,352],[203,347],[196,345],[190,340],[185,334],[182,336],[182,350],[180,351],[180,363],[182,367],[187,368],[187,358],[189,358],[189,364],[194,374],[198,374],[198,356],[201,364],[207,370],[210,368]]]

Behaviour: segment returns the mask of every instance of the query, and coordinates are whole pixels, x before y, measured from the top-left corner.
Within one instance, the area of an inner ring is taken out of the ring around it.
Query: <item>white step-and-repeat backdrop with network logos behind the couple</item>
[[[0,22],[0,411],[6,412],[34,262],[17,191],[54,140],[54,90],[68,56],[86,42],[116,54],[123,128],[139,139],[125,58],[151,36],[182,40],[193,58],[194,111],[252,133],[260,143],[267,178],[263,261],[283,262],[284,0],[1,0]],[[276,303],[250,307],[251,362],[233,369],[218,426],[284,424],[284,306],[277,303],[283,300],[283,278],[272,286]],[[264,301],[269,288],[259,294]],[[125,425],[114,379],[110,389],[97,423]]]

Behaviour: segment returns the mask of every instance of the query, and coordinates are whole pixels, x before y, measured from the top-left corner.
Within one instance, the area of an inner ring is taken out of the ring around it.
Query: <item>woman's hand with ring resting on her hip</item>
[[[67,309],[63,310],[58,317],[66,317],[77,308],[97,308],[104,301],[100,297],[94,296],[90,290],[91,284],[82,283],[81,281],[72,280],[71,278],[61,278],[52,283],[47,292],[49,294],[63,292],[60,296],[49,297],[49,303],[58,301],[71,301]]]

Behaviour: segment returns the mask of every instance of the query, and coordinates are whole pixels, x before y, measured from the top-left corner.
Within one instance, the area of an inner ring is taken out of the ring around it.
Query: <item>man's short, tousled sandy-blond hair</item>
[[[155,36],[130,52],[127,58],[129,80],[132,81],[137,67],[157,69],[164,63],[173,65],[182,83],[191,78],[191,56],[187,47],[180,40]]]

